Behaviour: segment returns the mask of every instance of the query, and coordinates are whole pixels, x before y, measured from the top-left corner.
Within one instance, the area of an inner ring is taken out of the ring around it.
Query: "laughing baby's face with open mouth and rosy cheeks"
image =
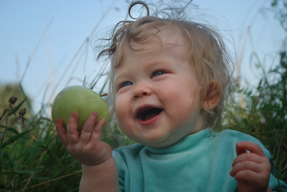
[[[162,44],[175,45],[161,48],[156,38],[133,42],[153,49],[128,48],[124,63],[114,71],[120,129],[133,141],[153,148],[170,146],[204,126],[198,81],[185,55],[184,38],[171,28],[160,37]]]

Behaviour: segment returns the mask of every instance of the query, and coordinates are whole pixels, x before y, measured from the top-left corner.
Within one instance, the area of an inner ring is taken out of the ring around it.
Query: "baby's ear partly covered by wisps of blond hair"
[[[210,80],[202,107],[208,110],[215,108],[221,99],[221,94],[222,87],[219,85],[218,81]]]

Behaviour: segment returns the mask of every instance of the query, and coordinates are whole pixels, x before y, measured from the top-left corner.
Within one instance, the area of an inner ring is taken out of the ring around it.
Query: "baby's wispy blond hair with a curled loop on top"
[[[143,1],[134,1],[129,6],[129,15],[134,5],[141,4],[147,10],[147,15],[134,20],[124,20],[118,22],[113,28],[109,38],[109,43],[101,47],[97,59],[104,57],[110,59],[111,66],[109,71],[109,102],[110,116],[116,119],[115,115],[115,89],[114,89],[114,69],[119,67],[125,57],[125,49],[129,47],[134,51],[143,51],[146,48],[135,47],[131,42],[142,42],[150,38],[157,38],[160,42],[158,32],[167,28],[174,28],[186,40],[190,65],[195,69],[198,78],[200,91],[200,103],[206,97],[212,97],[214,94],[221,94],[218,105],[211,109],[202,108],[206,114],[206,125],[218,129],[221,125],[224,103],[229,100],[233,83],[236,81],[232,76],[234,71],[234,62],[231,59],[229,51],[221,36],[219,30],[215,30],[207,24],[201,24],[188,20],[185,16],[183,5],[172,6],[163,3],[158,6],[146,4]],[[185,4],[186,6],[189,4]],[[155,7],[154,9],[149,8]],[[151,10],[151,13],[150,13]],[[100,46],[97,45],[97,49]],[[210,88],[210,81],[215,82]],[[213,90],[210,92],[210,90]]]

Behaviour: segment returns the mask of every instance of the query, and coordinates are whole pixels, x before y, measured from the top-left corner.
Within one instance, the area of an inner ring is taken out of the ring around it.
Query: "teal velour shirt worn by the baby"
[[[120,147],[113,150],[120,191],[237,191],[236,180],[229,172],[239,141],[259,144],[272,160],[268,150],[254,137],[232,130],[215,133],[211,128],[188,135],[165,148],[141,144]],[[273,191],[280,191],[274,175],[272,166],[269,185]],[[287,192],[286,183],[280,182]]]

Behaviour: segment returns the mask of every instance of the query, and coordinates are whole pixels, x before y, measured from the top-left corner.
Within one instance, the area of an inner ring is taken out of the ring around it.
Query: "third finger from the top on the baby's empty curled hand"
[[[260,164],[253,161],[242,161],[233,166],[232,170],[230,171],[231,177],[234,177],[237,172],[242,170],[251,170],[259,173],[262,171],[262,167],[260,166]]]

